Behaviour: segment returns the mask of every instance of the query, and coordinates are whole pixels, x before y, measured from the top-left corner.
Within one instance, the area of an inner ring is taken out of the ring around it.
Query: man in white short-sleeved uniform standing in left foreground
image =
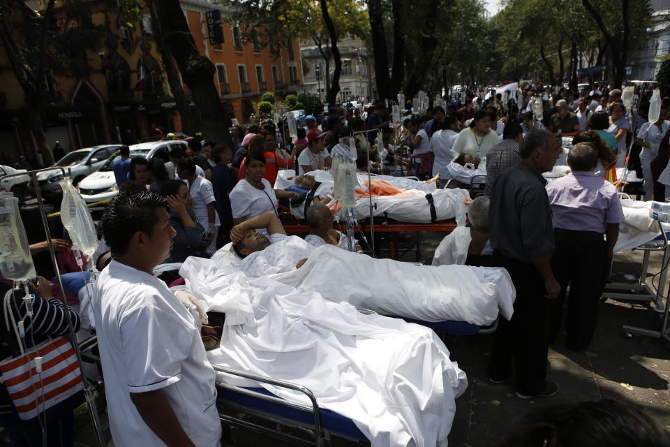
[[[103,235],[114,261],[94,306],[110,428],[117,446],[218,446],[215,373],[190,312],[153,275],[174,229],[163,199],[120,193]]]

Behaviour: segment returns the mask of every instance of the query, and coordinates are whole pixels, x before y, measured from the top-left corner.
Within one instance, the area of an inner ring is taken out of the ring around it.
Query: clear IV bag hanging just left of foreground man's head
[[[62,179],[60,184],[63,189],[61,202],[63,226],[68,230],[73,249],[81,251],[92,263],[93,254],[98,248],[98,233],[91,212],[69,178]]]

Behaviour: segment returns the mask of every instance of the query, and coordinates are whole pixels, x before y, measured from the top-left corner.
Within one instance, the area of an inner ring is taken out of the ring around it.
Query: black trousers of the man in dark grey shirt
[[[489,374],[503,379],[514,373],[516,391],[522,394],[540,393],[546,382],[546,289],[544,279],[533,264],[516,261],[493,251],[493,265],[505,268],[516,288],[514,315],[507,321],[500,316],[493,338]]]

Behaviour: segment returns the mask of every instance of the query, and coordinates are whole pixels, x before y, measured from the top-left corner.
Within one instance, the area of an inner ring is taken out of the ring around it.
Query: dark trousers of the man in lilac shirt
[[[567,286],[566,346],[581,351],[593,338],[598,303],[607,271],[605,241],[600,233],[556,228],[553,232],[556,248],[551,268],[560,284],[560,295],[549,302],[549,341],[558,337],[563,319],[563,303]]]

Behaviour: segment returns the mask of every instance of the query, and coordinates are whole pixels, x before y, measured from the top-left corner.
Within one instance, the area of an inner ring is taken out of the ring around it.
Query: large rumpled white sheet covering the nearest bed
[[[207,309],[226,313],[221,346],[207,353],[212,363],[306,386],[375,447],[447,445],[454,399],[467,380],[432,330],[207,259],[188,258],[180,272]],[[220,379],[308,404],[301,393]]]

